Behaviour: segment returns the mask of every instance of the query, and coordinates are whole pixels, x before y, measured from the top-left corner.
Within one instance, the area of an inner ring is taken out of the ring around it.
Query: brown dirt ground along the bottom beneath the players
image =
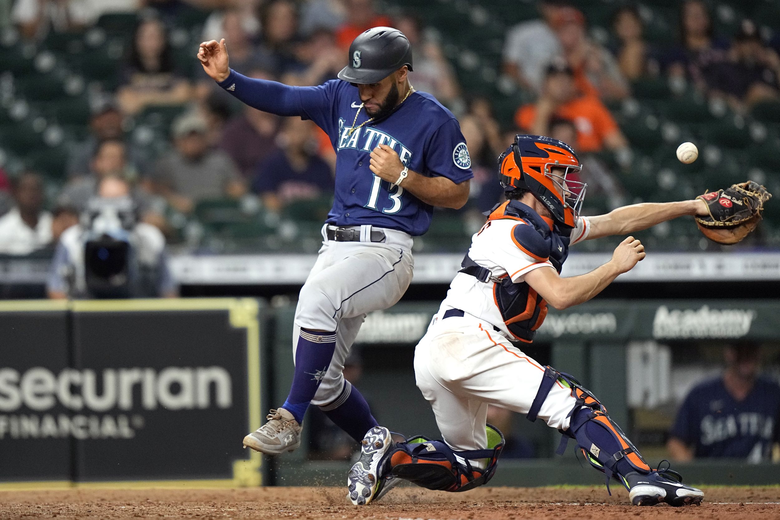
[[[780,488],[705,488],[699,507],[633,508],[628,493],[603,487],[481,487],[466,493],[442,493],[399,487],[376,504],[356,507],[344,488],[264,487],[232,490],[39,490],[0,492],[0,519],[5,518],[302,518],[342,520],[609,520],[667,518],[675,520],[742,520],[780,518]],[[774,504],[772,504],[774,502]]]

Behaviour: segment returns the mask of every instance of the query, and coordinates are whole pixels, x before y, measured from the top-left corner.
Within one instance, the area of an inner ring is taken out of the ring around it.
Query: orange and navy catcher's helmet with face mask
[[[504,191],[527,189],[550,210],[553,220],[569,228],[575,226],[587,185],[566,177],[581,169],[572,147],[544,136],[515,136],[498,157],[498,181]]]

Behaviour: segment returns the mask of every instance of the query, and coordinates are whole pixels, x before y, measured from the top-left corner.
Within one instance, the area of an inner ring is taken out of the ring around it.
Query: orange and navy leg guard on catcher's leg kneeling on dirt
[[[441,440],[425,437],[395,444],[386,459],[388,471],[429,490],[472,490],[492,478],[504,447],[504,436],[495,426],[488,424],[485,429],[488,448],[484,450],[455,451]],[[487,462],[484,469],[479,461]]]

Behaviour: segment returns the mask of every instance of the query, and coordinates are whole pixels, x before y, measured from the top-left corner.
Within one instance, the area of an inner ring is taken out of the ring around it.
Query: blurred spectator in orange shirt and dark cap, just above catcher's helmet
[[[555,60],[547,70],[541,96],[515,114],[517,126],[537,136],[550,135],[553,117],[573,121],[577,129],[577,153],[622,150],[628,147],[615,119],[595,96],[577,92],[574,73],[566,62]]]

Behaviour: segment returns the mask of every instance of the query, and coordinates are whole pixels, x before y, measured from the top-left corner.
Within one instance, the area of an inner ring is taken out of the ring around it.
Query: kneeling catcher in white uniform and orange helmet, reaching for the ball
[[[558,453],[574,439],[590,465],[605,474],[607,486],[617,480],[635,505],[699,504],[703,493],[683,485],[679,473],[668,465],[647,465],[594,394],[518,346],[534,340],[548,304],[566,309],[587,302],[645,256],[644,246],[629,236],[606,264],[561,278],[569,246],[683,215],[729,222],[732,215],[713,210],[718,197],[705,195],[580,216],[586,186],[567,179],[580,171],[580,161],[569,145],[548,137],[516,136],[498,162],[508,201],[473,235],[463,268],[415,351],[417,386],[433,407],[443,440],[395,443],[387,428],[372,428],[349,472],[350,500],[368,504],[397,478],[446,491],[487,483],[503,447],[502,433],[485,422],[491,404],[558,429],[563,434]],[[736,196],[733,186],[725,191]],[[723,198],[724,190],[717,193]],[[760,206],[753,206],[758,214]]]

